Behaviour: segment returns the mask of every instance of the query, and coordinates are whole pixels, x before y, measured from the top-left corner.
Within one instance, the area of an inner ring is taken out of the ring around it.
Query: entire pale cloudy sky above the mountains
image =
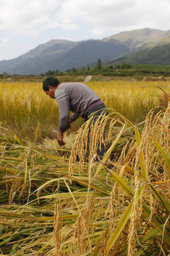
[[[52,39],[102,39],[140,28],[170,30],[170,0],[1,0],[0,60]]]

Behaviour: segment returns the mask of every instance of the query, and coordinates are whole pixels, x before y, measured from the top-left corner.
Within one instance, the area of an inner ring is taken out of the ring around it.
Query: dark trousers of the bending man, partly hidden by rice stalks
[[[98,119],[98,117],[103,113],[103,114],[108,114],[108,111],[106,109],[106,106],[104,105],[104,103],[97,105],[96,107],[93,107],[91,110],[89,110],[88,112],[86,112],[85,116],[84,116],[84,122],[86,122],[87,120],[89,120],[89,118],[91,117],[91,114],[94,113],[93,115],[93,119],[91,120],[91,123],[93,122],[93,124],[95,124],[96,120]],[[87,142],[87,153],[86,153],[86,157],[89,157],[90,151],[89,151],[89,140],[90,140],[90,132],[91,132],[91,123],[89,124],[89,132],[88,132],[88,142]],[[105,134],[103,133],[103,139],[105,137]],[[99,149],[99,142],[98,142],[98,149],[97,149],[97,154],[98,156],[102,159],[103,158],[103,154],[104,154],[104,144],[101,144],[101,149]]]

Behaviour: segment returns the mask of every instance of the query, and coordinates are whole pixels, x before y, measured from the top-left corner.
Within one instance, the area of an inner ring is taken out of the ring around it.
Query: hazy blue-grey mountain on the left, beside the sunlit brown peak
[[[51,43],[51,42],[50,42]],[[26,55],[13,60],[0,62],[0,73],[10,74],[40,74],[47,70],[67,70],[78,68],[96,62],[98,58],[108,60],[128,52],[129,48],[123,43],[111,39],[109,41],[89,40],[74,42],[62,42],[50,47],[38,46]],[[38,53],[39,52],[39,53]]]

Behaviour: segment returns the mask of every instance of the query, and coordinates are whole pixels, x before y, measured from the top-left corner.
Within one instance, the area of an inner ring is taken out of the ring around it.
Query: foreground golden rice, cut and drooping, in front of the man
[[[39,144],[39,127],[30,142],[1,126],[1,255],[169,255],[169,115],[169,107],[154,108],[139,129],[109,110],[91,128],[88,162],[88,124],[62,149]],[[111,142],[101,160],[96,143],[105,126]]]

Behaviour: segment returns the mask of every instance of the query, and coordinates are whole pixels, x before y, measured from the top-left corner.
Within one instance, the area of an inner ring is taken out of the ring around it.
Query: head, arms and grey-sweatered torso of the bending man
[[[57,78],[47,78],[43,82],[43,90],[52,99],[57,100],[59,107],[59,131],[57,134],[57,142],[60,146],[64,145],[63,134],[70,124],[79,116],[84,117],[86,122],[90,115],[94,115],[94,122],[102,112],[107,112],[106,106],[96,93],[88,86],[80,82],[61,83]],[[71,117],[69,112],[72,112]],[[97,154],[103,156],[104,145],[101,150],[98,149]]]

